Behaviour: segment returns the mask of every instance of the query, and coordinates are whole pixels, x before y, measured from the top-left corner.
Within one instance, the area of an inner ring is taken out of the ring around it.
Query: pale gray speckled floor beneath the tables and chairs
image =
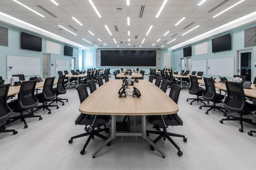
[[[112,75],[112,78],[114,76]],[[145,75],[145,79],[148,76]],[[104,81],[104,80],[103,80]],[[155,80],[154,80],[155,81]],[[153,82],[154,83],[154,82]],[[97,86],[98,87],[98,86]],[[89,88],[88,88],[89,91]],[[117,93],[117,92],[116,92]],[[89,92],[90,94],[90,92]],[[167,90],[169,94],[169,90]],[[143,95],[143,94],[142,94]],[[39,111],[38,118],[27,118],[28,128],[22,122],[16,122],[7,129],[16,129],[17,135],[0,133],[0,169],[255,169],[256,134],[248,136],[247,132],[255,127],[244,124],[244,132],[238,131],[238,122],[224,122],[219,111],[205,114],[206,108],[199,110],[200,103],[189,105],[187,98],[194,98],[183,88],[179,97],[178,115],[183,119],[183,126],[169,127],[168,132],[186,136],[188,141],[173,137],[183,151],[177,155],[177,149],[168,141],[159,141],[157,145],[165,152],[165,159],[141,137],[116,137],[109,147],[103,148],[96,158],[92,153],[103,142],[95,137],[86,153],[80,151],[88,137],[74,139],[71,136],[84,133],[84,127],[75,125],[79,115],[80,104],[76,89],[68,89],[62,98],[68,98],[59,109],[52,108],[52,113]],[[90,106],[88,106],[90,107]],[[100,107],[100,106],[99,106]],[[141,126],[140,117],[132,116],[132,130]],[[120,117],[122,119],[122,117]],[[109,122],[108,127],[111,127]],[[152,125],[147,123],[147,129]],[[103,135],[109,136],[105,132]],[[157,136],[151,134],[150,138]]]

